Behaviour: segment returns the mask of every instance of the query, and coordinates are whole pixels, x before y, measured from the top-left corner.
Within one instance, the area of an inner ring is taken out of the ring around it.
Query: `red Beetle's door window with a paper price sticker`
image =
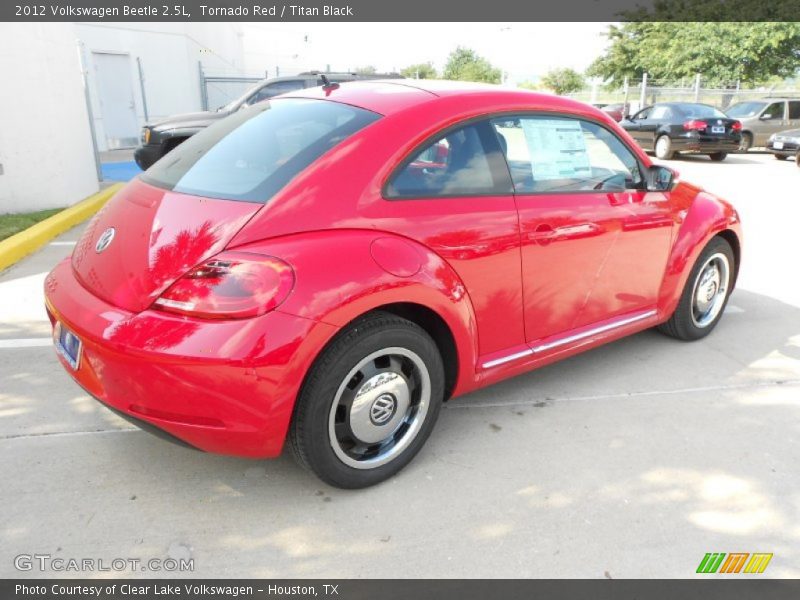
[[[639,161],[611,131],[567,117],[498,118],[492,125],[518,194],[639,189]]]

